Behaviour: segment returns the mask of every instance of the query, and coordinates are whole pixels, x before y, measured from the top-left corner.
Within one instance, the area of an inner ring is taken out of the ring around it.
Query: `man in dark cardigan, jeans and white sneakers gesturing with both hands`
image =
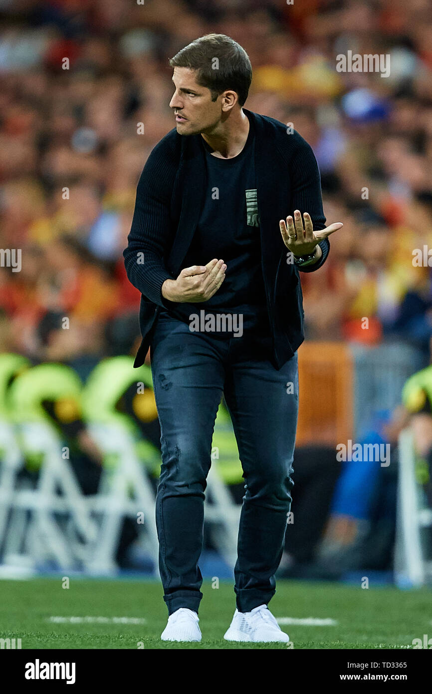
[[[327,237],[342,224],[325,228],[311,147],[275,119],[242,108],[252,68],[239,44],[206,35],[170,65],[176,128],[146,162],[124,251],[142,294],[135,366],[150,345],[162,430],[156,516],[169,609],[162,639],[201,638],[204,491],[224,393],[246,490],[237,609],[225,638],[288,641],[267,604],[293,486],[304,339],[298,270],[322,265]],[[294,216],[285,222],[287,210]]]

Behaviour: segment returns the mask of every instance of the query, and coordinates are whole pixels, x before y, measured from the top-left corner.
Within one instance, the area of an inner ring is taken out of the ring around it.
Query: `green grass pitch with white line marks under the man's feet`
[[[230,644],[223,634],[235,609],[230,582],[218,589],[206,581],[200,607],[201,643],[165,643],[160,634],[167,611],[162,587],[155,581],[62,578],[0,581],[0,638],[21,638],[21,648],[284,648],[285,644]],[[331,618],[336,626],[281,625],[293,648],[402,648],[413,638],[432,634],[428,589],[347,586],[280,580],[270,609],[277,618]],[[51,617],[103,617],[107,623],[53,623]],[[140,618],[119,624],[112,618]],[[412,648],[412,645],[411,645]]]

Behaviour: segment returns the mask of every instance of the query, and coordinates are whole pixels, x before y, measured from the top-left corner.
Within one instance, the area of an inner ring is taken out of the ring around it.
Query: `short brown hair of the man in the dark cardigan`
[[[215,62],[217,58],[217,62]],[[169,61],[171,67],[196,70],[196,81],[211,91],[212,101],[232,89],[243,106],[252,82],[252,65],[248,53],[225,34],[206,34],[182,48]]]

